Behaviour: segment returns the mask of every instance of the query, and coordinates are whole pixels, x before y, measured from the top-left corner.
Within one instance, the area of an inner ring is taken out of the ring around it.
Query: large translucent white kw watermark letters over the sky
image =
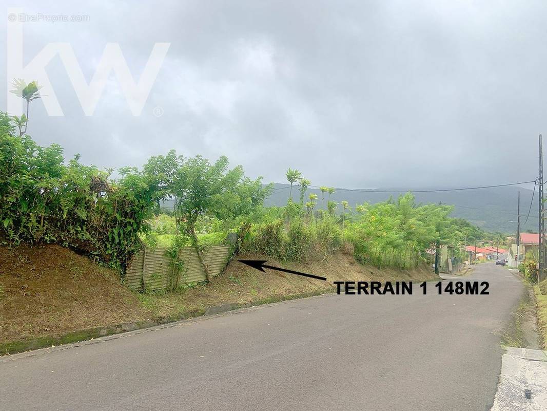
[[[138,81],[133,78],[120,45],[106,43],[101,58],[97,62],[95,73],[88,84],[70,43],[47,43],[30,61],[27,60],[28,64],[24,65],[23,26],[26,21],[20,20],[21,15],[28,16],[20,8],[8,9],[7,110],[10,114],[22,113],[22,100],[14,93],[10,93],[10,84],[14,79],[22,79],[26,82],[37,81],[42,86],[40,94],[49,116],[63,116],[61,105],[45,70],[49,62],[59,55],[86,116],[93,115],[111,72],[114,72],[121,94],[125,96],[132,115],[141,115],[171,43],[154,43],[143,70],[138,70],[141,71]],[[68,19],[71,17],[67,16]],[[154,111],[155,116],[158,114],[161,116],[163,110],[161,113]]]

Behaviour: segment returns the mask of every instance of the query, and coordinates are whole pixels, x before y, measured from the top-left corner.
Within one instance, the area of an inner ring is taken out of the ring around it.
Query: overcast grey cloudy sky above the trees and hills
[[[290,167],[313,185],[349,188],[493,185],[538,174],[545,1],[43,3],[8,6],[87,18],[24,22],[25,64],[48,43],[69,43],[90,82],[106,44],[117,43],[138,81],[154,44],[170,43],[138,116],[113,73],[86,115],[60,55],[51,59],[46,73],[63,116],[32,102],[28,134],[60,144],[67,159],[139,167],[176,149],[225,155],[267,182],[285,182]],[[13,78],[3,4],[5,111]]]

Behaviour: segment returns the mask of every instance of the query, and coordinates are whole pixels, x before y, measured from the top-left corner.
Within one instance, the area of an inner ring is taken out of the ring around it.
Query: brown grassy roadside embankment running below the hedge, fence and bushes
[[[260,255],[240,258],[280,265]],[[124,323],[152,325],[195,317],[226,303],[243,307],[333,292],[335,280],[435,278],[427,267],[379,270],[341,252],[324,261],[280,266],[322,275],[328,282],[277,271],[262,273],[232,261],[208,284],[139,294],[120,284],[117,272],[66,248],[0,247],[0,355],[120,332],[127,329],[119,326]]]

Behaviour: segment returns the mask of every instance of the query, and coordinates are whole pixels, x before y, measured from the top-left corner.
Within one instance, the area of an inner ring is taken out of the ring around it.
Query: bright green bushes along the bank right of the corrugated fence
[[[301,186],[302,180],[303,186],[310,184],[301,178]],[[342,201],[340,214],[335,213],[337,204],[329,204],[326,212],[318,210],[314,215],[315,204],[311,203],[316,198],[310,196],[310,202],[303,205],[289,199],[285,207],[263,208],[250,215],[252,224],[243,249],[302,261],[322,259],[336,248],[349,246],[360,262],[410,269],[426,261],[427,252],[436,244],[447,245],[455,257],[462,257],[465,241],[484,237],[484,232],[467,221],[450,218],[452,207],[418,206],[411,193],[397,200],[360,204],[354,211]]]

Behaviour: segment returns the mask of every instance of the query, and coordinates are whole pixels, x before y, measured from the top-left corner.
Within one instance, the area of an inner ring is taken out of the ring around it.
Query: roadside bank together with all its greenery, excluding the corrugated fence
[[[21,83],[19,91],[27,109],[39,98],[35,83]],[[248,178],[241,166],[231,168],[226,157],[210,162],[172,150],[149,158],[141,168],[100,170],[80,163],[79,155],[67,161],[59,145],[38,145],[26,134],[27,127],[28,116],[0,112],[3,339],[128,318],[176,318],[226,300],[246,304],[325,290],[324,283],[282,274],[264,277],[238,263],[210,278],[202,255],[228,237],[232,255],[323,272],[329,278],[366,280],[431,279],[435,250],[448,246],[453,258],[461,260],[462,246],[485,236],[469,222],[451,218],[452,207],[416,204],[410,192],[377,204],[349,204],[330,201],[334,187],[321,186],[321,200],[327,199],[321,209],[318,195],[309,193],[311,181],[289,168],[286,206],[264,207],[272,185]],[[298,201],[293,201],[293,191],[298,191]],[[129,292],[121,286],[124,271],[143,247],[165,248],[167,255],[193,247],[208,284]],[[113,271],[91,270],[82,264],[84,257],[73,264],[67,249],[114,269],[118,285],[112,283]],[[46,261],[44,250],[53,250],[52,255],[65,250],[66,261]],[[34,319],[44,328],[37,329]],[[63,322],[66,327],[53,325]]]

